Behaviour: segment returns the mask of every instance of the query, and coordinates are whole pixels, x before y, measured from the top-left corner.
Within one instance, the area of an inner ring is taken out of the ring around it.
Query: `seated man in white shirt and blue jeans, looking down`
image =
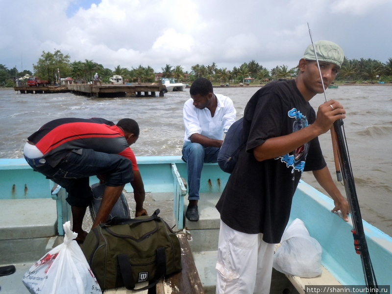
[[[191,98],[184,104],[185,124],[182,159],[187,163],[188,200],[185,216],[198,221],[200,175],[204,162],[216,163],[223,142],[223,132],[236,120],[233,101],[214,94],[211,82],[203,77],[196,79],[190,89]]]

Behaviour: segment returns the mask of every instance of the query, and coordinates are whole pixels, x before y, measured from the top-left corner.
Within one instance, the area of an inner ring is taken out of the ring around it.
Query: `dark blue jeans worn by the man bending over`
[[[128,158],[93,149],[70,151],[54,168],[48,163],[34,165],[31,160],[26,160],[34,171],[65,188],[68,192],[67,202],[71,206],[90,205],[93,199],[90,176],[105,175],[105,185],[113,187],[133,181],[132,162]]]

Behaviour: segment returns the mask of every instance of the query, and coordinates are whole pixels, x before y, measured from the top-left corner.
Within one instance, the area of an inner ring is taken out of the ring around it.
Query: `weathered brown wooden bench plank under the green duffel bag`
[[[185,233],[177,234],[181,245],[181,265],[180,272],[173,273],[164,277],[156,285],[156,294],[204,294],[203,286],[201,284],[195,260],[193,259],[192,251],[188,243],[188,238]],[[146,286],[146,283],[137,284],[136,288]],[[105,290],[105,294],[147,294],[148,291],[132,291],[125,287]]]

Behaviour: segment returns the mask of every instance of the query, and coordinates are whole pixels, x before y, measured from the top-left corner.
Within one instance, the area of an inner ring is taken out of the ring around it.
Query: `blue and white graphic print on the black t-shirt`
[[[308,125],[308,120],[306,116],[302,115],[300,111],[297,111],[296,108],[293,108],[288,112],[288,116],[290,118],[295,118],[293,123],[293,132],[300,130]],[[305,167],[305,159],[308,154],[309,143],[302,145],[301,147],[296,148],[292,153],[293,154],[285,154],[275,159],[280,159],[281,162],[285,163],[287,168],[292,168],[292,173],[294,171],[303,172]]]

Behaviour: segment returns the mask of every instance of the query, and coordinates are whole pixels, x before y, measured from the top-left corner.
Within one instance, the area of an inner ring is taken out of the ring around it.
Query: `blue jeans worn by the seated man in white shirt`
[[[201,170],[203,163],[218,161],[219,147],[205,147],[198,143],[185,143],[182,147],[182,160],[187,163],[188,170],[188,199],[198,200]]]

